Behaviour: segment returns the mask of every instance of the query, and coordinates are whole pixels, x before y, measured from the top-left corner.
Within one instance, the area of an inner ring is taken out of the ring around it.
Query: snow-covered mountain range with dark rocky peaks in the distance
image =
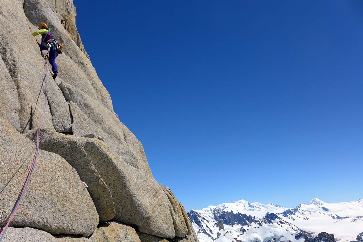
[[[240,200],[190,210],[188,216],[200,242],[363,241],[363,200],[314,198],[295,208]]]

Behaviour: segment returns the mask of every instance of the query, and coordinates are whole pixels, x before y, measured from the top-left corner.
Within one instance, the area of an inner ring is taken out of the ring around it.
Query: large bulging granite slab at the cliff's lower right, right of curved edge
[[[115,220],[136,225],[140,231],[174,238],[175,230],[166,194],[147,171],[127,163],[97,138],[78,140],[110,188]]]

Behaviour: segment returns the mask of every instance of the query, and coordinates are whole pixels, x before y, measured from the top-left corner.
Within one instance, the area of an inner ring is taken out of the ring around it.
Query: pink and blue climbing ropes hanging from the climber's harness
[[[48,48],[48,53],[49,53],[49,50],[50,50],[50,47]],[[49,55],[48,55],[49,56]],[[26,188],[28,187],[28,184],[29,184],[29,181],[30,181],[30,178],[32,177],[32,174],[33,174],[33,170],[34,170],[34,165],[37,161],[37,157],[38,157],[38,151],[39,151],[39,128],[40,126],[42,126],[42,123],[43,123],[43,120],[44,120],[44,116],[45,116],[45,110],[46,110],[46,79],[47,79],[47,74],[48,74],[48,62],[49,62],[49,57],[47,58],[46,60],[46,70],[45,70],[45,85],[44,85],[44,106],[43,106],[43,114],[42,114],[42,118],[41,118],[41,121],[40,121],[40,124],[38,126],[38,129],[37,129],[37,147],[36,147],[36,150],[35,150],[35,154],[34,154],[34,158],[33,158],[33,163],[32,163],[32,166],[30,167],[30,170],[29,170],[29,173],[28,173],[28,177],[26,178],[26,181],[24,183],[24,186],[23,186],[23,189],[21,190],[21,193],[20,193],[20,196],[19,196],[19,199],[18,199],[18,202],[16,203],[12,213],[10,214],[10,217],[8,219],[8,222],[6,223],[5,227],[3,227],[3,230],[1,231],[0,233],[0,241],[1,239],[3,239],[4,237],[4,234],[5,234],[5,231],[7,230],[8,226],[9,226],[9,223],[10,221],[13,219],[14,217],[14,214],[16,213],[16,210],[18,210],[19,208],[19,204],[20,204],[20,201],[23,199],[23,196],[24,196],[24,193],[25,193],[25,190]]]

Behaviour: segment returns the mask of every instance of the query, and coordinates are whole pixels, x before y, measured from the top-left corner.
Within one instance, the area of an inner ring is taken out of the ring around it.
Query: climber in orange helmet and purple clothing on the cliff
[[[58,41],[56,41],[53,37],[53,34],[50,33],[50,28],[48,28],[48,25],[45,23],[40,23],[38,26],[38,31],[32,33],[33,36],[37,36],[38,34],[42,35],[42,42],[39,44],[40,52],[42,53],[42,50],[49,50],[49,63],[52,66],[53,71],[53,79],[55,80],[58,75],[58,67],[56,64],[56,57],[59,53],[61,53],[61,49],[59,48]],[[57,47],[58,45],[58,47]],[[42,57],[43,53],[42,53]]]

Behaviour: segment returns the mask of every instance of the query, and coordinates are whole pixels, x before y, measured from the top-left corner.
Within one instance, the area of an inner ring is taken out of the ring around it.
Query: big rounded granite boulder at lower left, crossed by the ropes
[[[0,181],[4,184],[35,145],[10,123],[0,118]],[[34,153],[34,152],[33,152]],[[23,188],[32,159],[1,192],[0,226],[5,225]],[[32,178],[11,226],[29,226],[52,234],[89,236],[98,224],[98,214],[76,170],[61,156],[40,150]]]

